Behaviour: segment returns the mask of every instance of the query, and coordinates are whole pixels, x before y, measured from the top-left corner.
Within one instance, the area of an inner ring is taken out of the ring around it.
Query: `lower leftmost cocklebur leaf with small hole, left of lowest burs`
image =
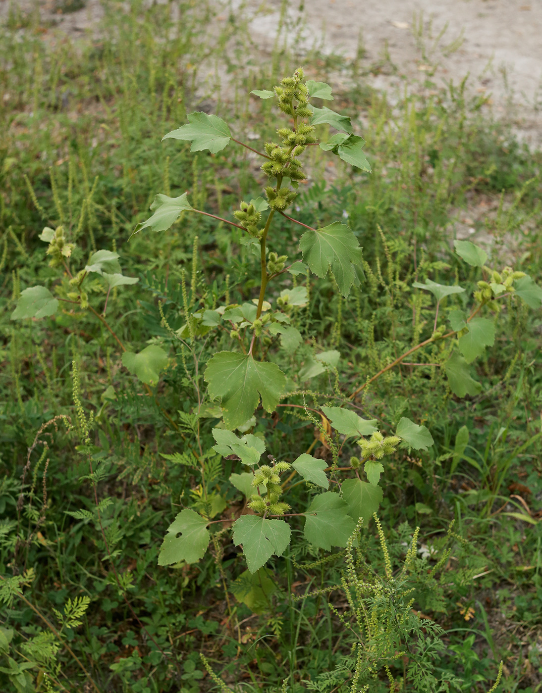
[[[171,565],[179,561],[196,563],[203,559],[210,542],[208,524],[209,520],[194,510],[180,511],[167,528],[158,554],[158,565]]]

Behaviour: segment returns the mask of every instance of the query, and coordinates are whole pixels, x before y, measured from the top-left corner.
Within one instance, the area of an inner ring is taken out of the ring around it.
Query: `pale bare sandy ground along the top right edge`
[[[42,17],[73,37],[94,33],[103,14],[100,0],[63,15],[54,12],[60,0],[0,0],[0,19],[14,1],[23,10],[37,1]],[[244,3],[263,57],[273,48],[282,0],[217,0],[226,10],[219,21]],[[354,58],[361,42],[364,79],[390,98],[405,85],[459,85],[468,74],[471,94],[489,97],[485,109],[514,123],[532,148],[542,146],[542,0],[289,0],[287,23],[301,61],[315,44]]]

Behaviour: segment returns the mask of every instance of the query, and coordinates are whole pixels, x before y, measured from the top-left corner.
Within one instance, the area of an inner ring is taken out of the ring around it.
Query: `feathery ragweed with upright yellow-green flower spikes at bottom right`
[[[446,543],[433,556],[437,562],[429,568],[427,559],[416,558],[420,529],[416,527],[403,564],[392,565],[390,550],[376,514],[374,520],[380,543],[380,561],[375,561],[373,554],[370,558],[364,554],[363,520],[360,518],[346,543],[346,565],[340,587],[332,586],[299,597],[307,599],[340,589],[348,608],[339,611],[333,602],[329,603],[329,608],[344,631],[354,636],[350,654],[343,657],[337,667],[314,681],[303,683],[307,690],[319,693],[332,690],[339,693],[465,690],[459,667],[456,665],[455,669],[450,669],[443,666],[446,659],[445,631],[418,611],[416,603],[419,581],[425,582],[418,574],[416,564],[423,562],[424,572],[441,572],[450,556],[451,542],[457,536],[450,527]],[[434,584],[432,591],[441,593],[443,586]],[[498,686],[501,674],[502,663],[490,693]]]

